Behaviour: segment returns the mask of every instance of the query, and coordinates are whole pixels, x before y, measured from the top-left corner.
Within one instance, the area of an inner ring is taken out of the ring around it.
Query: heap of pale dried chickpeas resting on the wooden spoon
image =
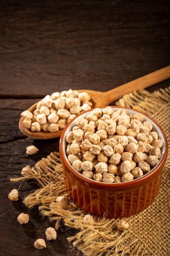
[[[91,109],[90,99],[87,92],[72,89],[54,92],[39,101],[33,113],[29,110],[21,113],[23,124],[32,132],[57,132],[76,115]]]

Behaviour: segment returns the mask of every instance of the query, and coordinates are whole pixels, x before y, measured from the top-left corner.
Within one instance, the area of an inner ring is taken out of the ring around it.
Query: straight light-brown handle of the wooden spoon
[[[108,104],[120,99],[125,94],[137,91],[139,89],[147,88],[151,85],[155,85],[156,83],[160,83],[169,78],[170,65],[105,92],[107,94]]]

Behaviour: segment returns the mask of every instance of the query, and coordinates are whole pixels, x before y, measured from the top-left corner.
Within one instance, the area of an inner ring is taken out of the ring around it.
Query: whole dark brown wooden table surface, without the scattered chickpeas
[[[58,139],[25,137],[20,113],[52,92],[106,91],[170,65],[169,13],[168,0],[0,2],[0,255],[77,255],[66,240],[75,231],[64,227],[50,247],[33,247],[50,225],[22,203],[35,184],[23,182],[20,200],[8,199],[19,186],[10,178],[58,147]],[[170,79],[148,90],[169,85]],[[40,151],[28,156],[32,144]],[[16,220],[23,209],[31,218],[24,227]]]

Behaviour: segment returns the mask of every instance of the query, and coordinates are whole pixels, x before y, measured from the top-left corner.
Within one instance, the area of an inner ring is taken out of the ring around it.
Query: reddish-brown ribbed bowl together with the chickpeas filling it
[[[156,198],[167,154],[161,127],[130,108],[83,112],[60,137],[68,195],[85,211],[107,218],[131,216]]]

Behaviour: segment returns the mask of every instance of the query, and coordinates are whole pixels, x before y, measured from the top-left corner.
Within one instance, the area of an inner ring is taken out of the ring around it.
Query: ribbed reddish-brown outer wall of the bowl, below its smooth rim
[[[81,182],[63,166],[66,191],[73,202],[84,211],[106,218],[123,218],[134,215],[148,207],[155,200],[162,171],[147,184],[132,190],[113,192],[110,189],[96,189]]]

